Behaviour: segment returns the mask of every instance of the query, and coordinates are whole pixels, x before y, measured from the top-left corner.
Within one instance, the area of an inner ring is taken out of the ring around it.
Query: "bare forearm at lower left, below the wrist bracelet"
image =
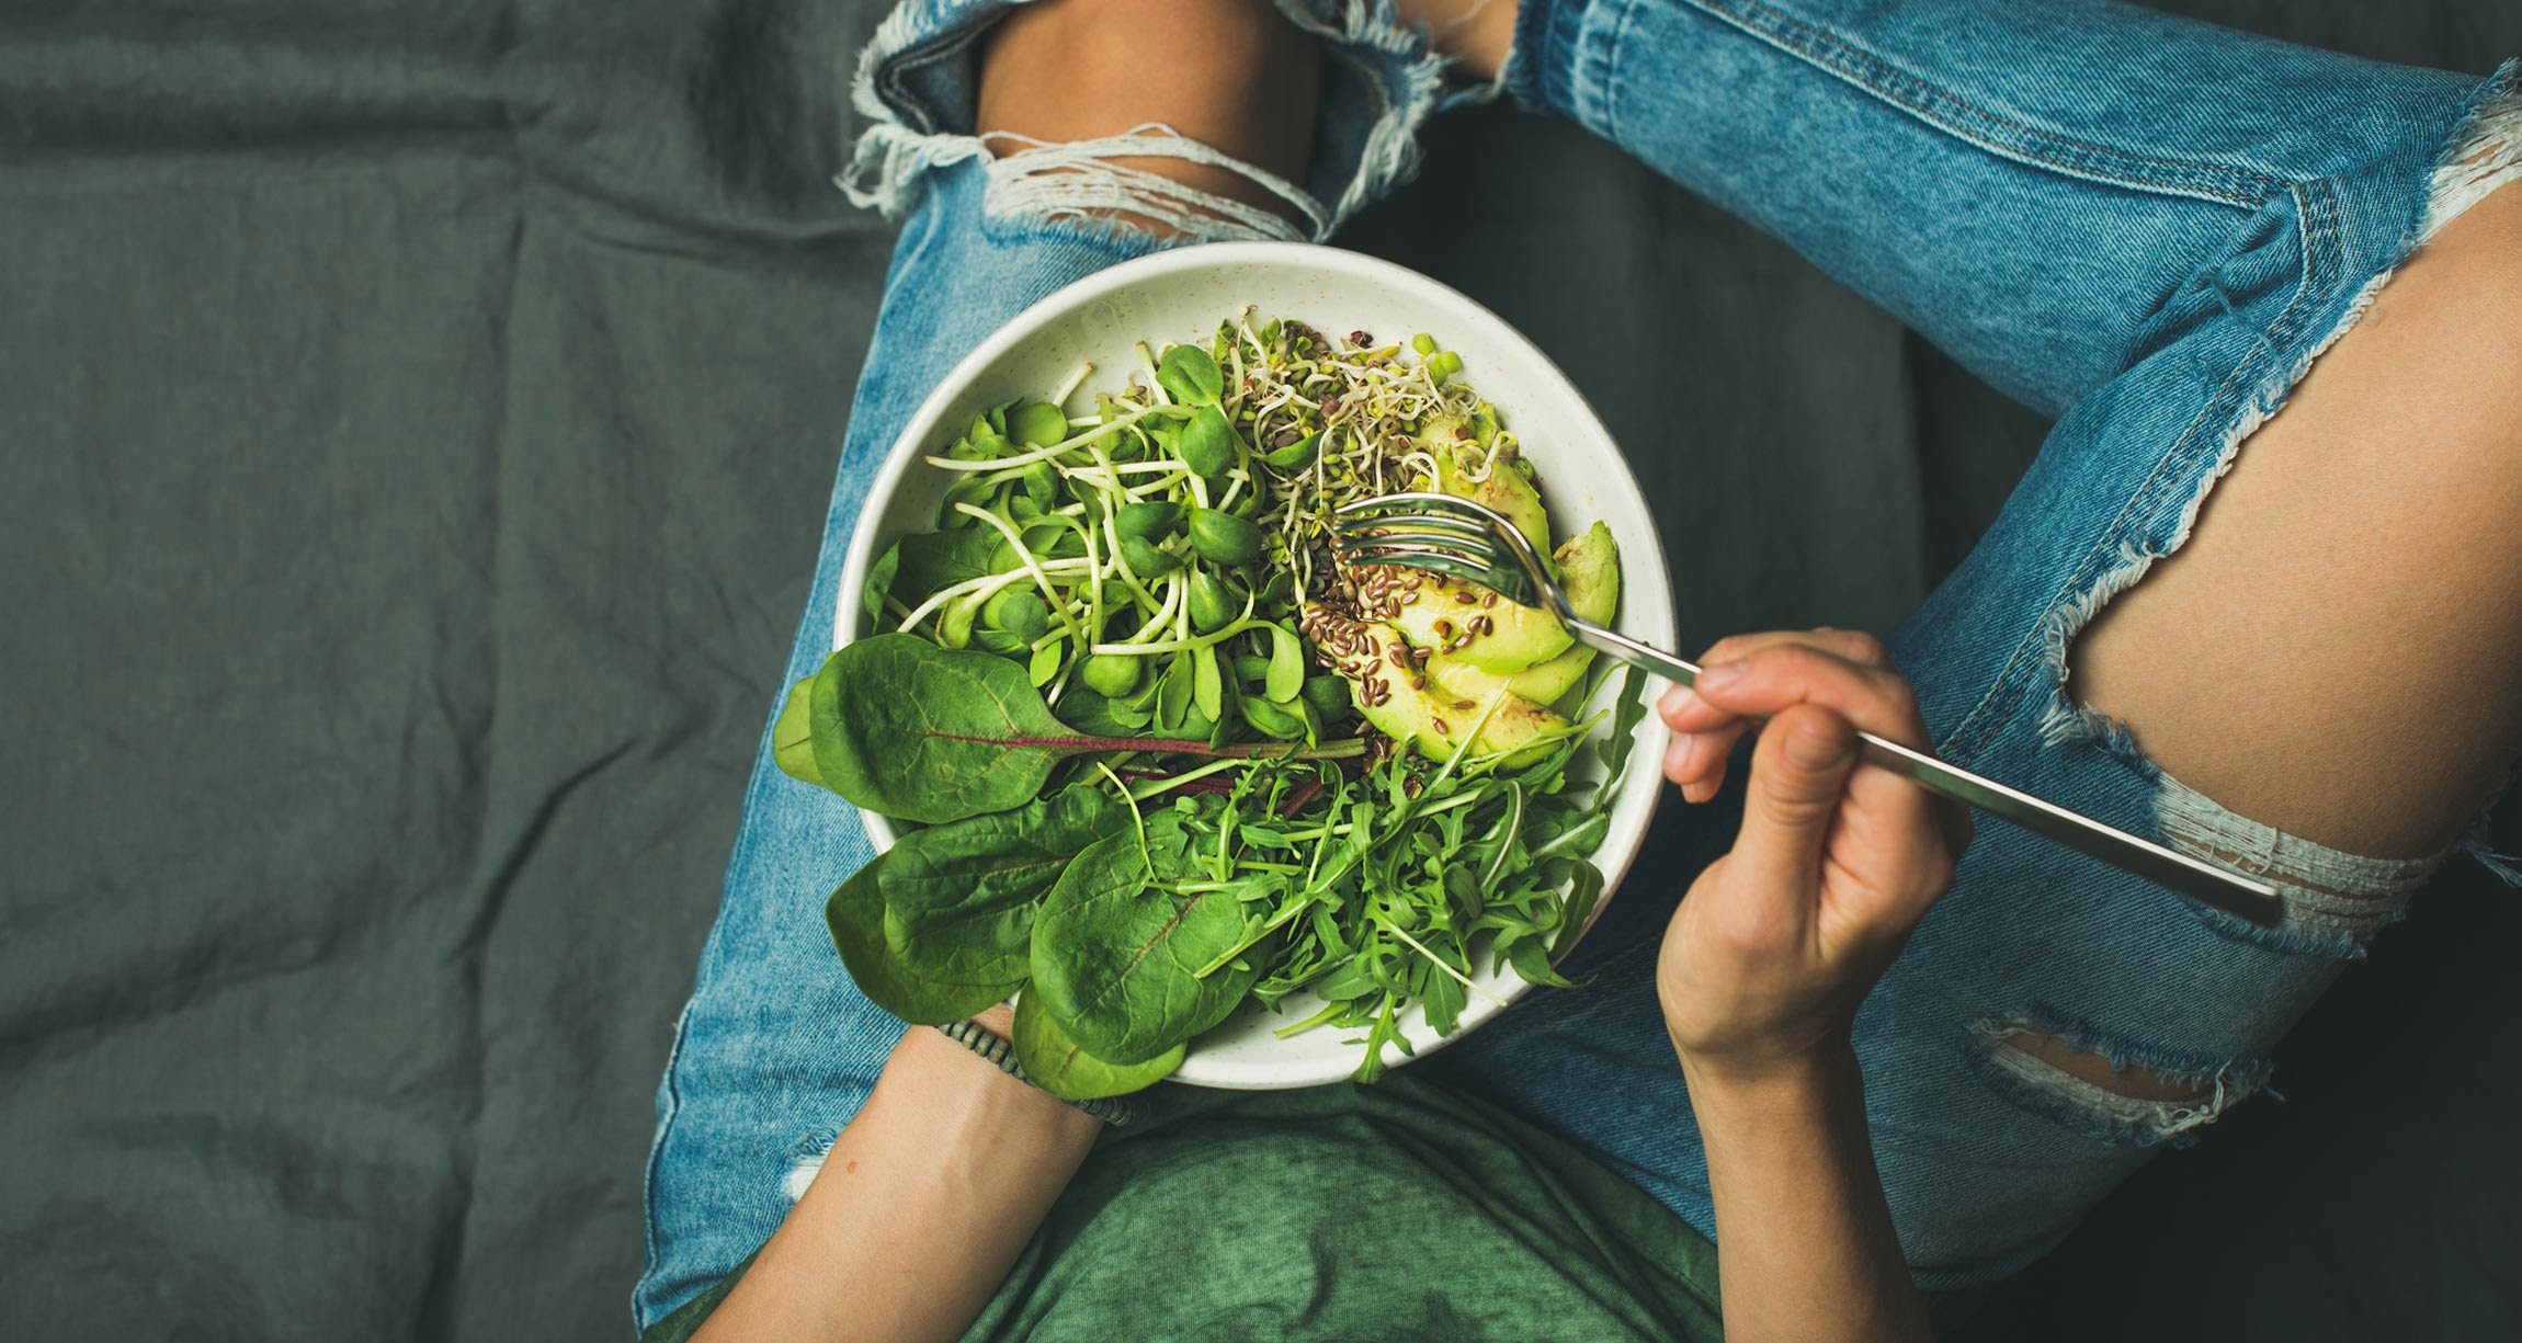
[[[696,1340],[961,1338],[1100,1126],[956,1041],[910,1031]]]

